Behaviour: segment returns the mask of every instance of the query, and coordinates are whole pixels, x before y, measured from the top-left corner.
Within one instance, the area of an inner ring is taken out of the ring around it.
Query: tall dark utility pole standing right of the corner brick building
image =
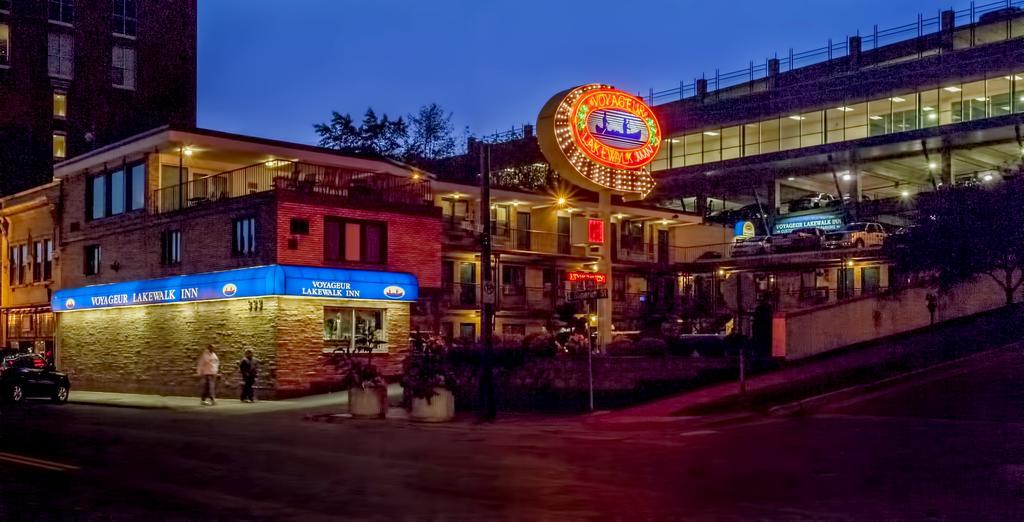
[[[498,414],[495,403],[495,281],[490,271],[490,145],[480,142],[480,335],[483,353],[480,357],[480,420],[490,422]]]

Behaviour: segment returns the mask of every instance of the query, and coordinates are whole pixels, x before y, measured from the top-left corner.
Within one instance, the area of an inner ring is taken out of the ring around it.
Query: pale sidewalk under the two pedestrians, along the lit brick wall
[[[400,399],[401,386],[397,384],[389,385],[388,397],[392,400]],[[73,389],[68,397],[68,402],[72,404],[89,404],[96,406],[244,415],[311,409],[327,406],[340,406],[347,409],[348,393],[342,391],[286,400],[258,400],[253,403],[242,402],[239,399],[217,399],[216,405],[206,406],[200,404],[199,397],[145,395],[141,393],[94,392]]]

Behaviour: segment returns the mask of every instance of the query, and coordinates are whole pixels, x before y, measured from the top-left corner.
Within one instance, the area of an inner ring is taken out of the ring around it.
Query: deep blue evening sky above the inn
[[[915,24],[949,0],[200,0],[199,124],[314,142],[332,110],[437,102],[490,134],[591,82],[647,92],[848,35]],[[984,2],[983,2],[984,3]],[[287,6],[282,8],[282,6]],[[244,7],[243,7],[244,6]]]

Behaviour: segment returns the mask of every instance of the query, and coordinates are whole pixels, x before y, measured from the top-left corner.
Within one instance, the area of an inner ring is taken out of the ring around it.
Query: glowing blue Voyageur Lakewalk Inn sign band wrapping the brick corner
[[[418,292],[409,273],[268,265],[58,290],[51,305],[67,312],[263,296],[415,301]]]

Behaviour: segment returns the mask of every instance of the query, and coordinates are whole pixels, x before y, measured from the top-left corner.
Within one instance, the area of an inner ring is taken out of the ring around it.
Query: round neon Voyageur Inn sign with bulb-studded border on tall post
[[[647,166],[662,144],[653,112],[607,85],[575,87],[552,97],[538,117],[541,150],[569,181],[592,189],[646,194]]]

